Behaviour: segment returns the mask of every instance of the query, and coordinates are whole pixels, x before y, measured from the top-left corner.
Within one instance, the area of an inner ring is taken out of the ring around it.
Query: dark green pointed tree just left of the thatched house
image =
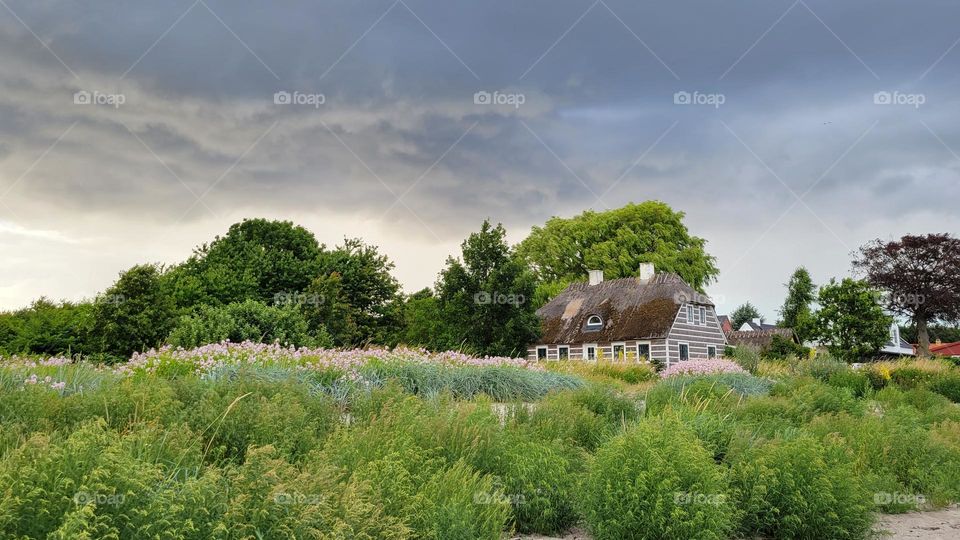
[[[484,221],[461,244],[462,258],[447,259],[437,283],[447,335],[476,354],[523,356],[540,333],[535,278],[505,236],[502,225]]]

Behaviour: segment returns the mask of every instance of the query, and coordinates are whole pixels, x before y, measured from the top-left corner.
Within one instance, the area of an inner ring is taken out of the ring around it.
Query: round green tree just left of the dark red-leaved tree
[[[880,305],[880,292],[865,281],[831,279],[820,288],[820,309],[812,334],[830,354],[855,362],[877,354],[890,338],[893,318]]]

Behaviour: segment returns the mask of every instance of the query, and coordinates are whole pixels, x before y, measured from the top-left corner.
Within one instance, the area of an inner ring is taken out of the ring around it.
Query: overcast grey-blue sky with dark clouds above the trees
[[[257,216],[363,237],[412,292],[484,218],[519,241],[659,199],[717,257],[721,312],[773,319],[797,265],[822,283],[869,239],[960,233],[958,20],[955,0],[0,0],[0,309]]]

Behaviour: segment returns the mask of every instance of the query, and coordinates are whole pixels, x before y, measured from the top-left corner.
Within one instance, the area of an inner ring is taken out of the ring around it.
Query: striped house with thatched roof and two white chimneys
[[[680,276],[642,264],[639,277],[574,283],[537,310],[543,327],[531,360],[645,359],[665,366],[715,358],[727,341],[713,301]]]

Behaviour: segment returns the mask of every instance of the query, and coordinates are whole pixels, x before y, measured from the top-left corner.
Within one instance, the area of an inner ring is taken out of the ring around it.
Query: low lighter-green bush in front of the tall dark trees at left
[[[224,340],[279,342],[298,347],[331,345],[328,338],[321,337],[317,343],[307,333],[307,322],[296,307],[268,306],[256,300],[222,307],[201,306],[196,314],[182,317],[167,338],[171,345],[184,348]]]

